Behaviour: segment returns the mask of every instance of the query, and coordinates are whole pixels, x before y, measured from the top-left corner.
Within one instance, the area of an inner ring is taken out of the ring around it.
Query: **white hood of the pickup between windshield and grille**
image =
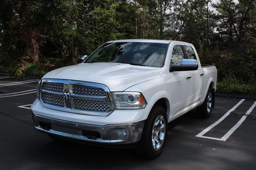
[[[105,84],[110,91],[124,91],[151,79],[159,78],[158,67],[134,66],[125,63],[80,63],[50,71],[43,78],[80,80]]]

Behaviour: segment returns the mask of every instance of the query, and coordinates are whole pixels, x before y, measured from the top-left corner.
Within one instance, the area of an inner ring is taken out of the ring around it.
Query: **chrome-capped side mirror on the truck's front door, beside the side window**
[[[197,70],[198,63],[196,59],[182,59],[180,65],[171,65],[170,71],[190,71]]]

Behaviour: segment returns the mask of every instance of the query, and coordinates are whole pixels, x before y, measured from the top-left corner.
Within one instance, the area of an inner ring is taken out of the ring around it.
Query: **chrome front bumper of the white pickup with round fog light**
[[[105,144],[129,144],[141,140],[144,121],[133,124],[96,126],[43,117],[32,113],[35,128],[43,133]]]

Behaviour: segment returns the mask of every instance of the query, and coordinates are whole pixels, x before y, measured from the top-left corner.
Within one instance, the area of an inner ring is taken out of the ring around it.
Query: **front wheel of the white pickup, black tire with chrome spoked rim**
[[[157,158],[167,141],[167,128],[166,110],[160,105],[155,105],[144,124],[141,141],[135,148],[137,154],[146,159]]]

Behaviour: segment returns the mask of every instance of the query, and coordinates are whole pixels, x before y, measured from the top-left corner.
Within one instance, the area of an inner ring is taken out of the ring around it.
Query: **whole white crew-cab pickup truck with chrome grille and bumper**
[[[126,145],[156,158],[168,122],[197,108],[214,107],[217,70],[202,65],[192,44],[117,40],[78,65],[50,71],[31,106],[35,128],[52,138]]]

